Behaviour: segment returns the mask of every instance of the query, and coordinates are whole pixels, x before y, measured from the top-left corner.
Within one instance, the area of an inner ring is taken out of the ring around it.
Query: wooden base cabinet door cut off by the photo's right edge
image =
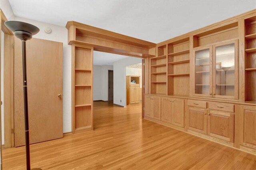
[[[256,148],[256,107],[244,107],[244,143]],[[254,145],[254,146],[253,146]]]

